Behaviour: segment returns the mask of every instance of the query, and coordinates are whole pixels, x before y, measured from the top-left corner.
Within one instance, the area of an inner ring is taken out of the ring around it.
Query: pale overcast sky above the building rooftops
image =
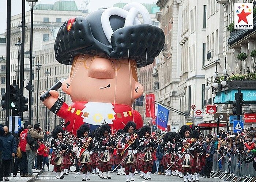
[[[39,0],[39,4],[54,4],[58,0]],[[82,7],[82,4],[85,4],[86,0],[75,0],[78,9]],[[95,11],[98,8],[102,7],[112,7],[115,3],[130,3],[130,2],[139,2],[139,3],[156,3],[157,0],[90,0],[90,3],[87,5],[89,12]],[[6,0],[0,0],[0,34],[4,33],[6,30],[6,9],[7,3]],[[26,3],[26,11],[29,11],[30,7]],[[22,11],[22,0],[11,0],[11,16],[20,14]]]

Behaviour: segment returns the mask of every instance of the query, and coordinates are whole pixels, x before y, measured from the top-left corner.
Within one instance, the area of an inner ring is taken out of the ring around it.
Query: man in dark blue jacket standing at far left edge
[[[11,176],[11,160],[16,154],[17,144],[7,126],[4,126],[4,135],[0,137],[0,140],[4,146],[2,151],[0,179],[4,177],[4,181],[9,181],[8,177]]]

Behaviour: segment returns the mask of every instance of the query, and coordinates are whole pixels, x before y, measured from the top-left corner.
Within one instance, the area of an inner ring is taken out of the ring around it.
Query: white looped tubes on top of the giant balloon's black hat
[[[132,24],[140,24],[140,21],[138,19],[139,13],[142,15],[145,24],[152,24],[147,8],[140,3],[128,3],[124,6],[123,9],[112,7],[103,11],[101,15],[101,25],[109,43],[111,43],[111,36],[114,33],[110,25],[110,16],[121,16],[125,19],[124,26],[128,26]]]

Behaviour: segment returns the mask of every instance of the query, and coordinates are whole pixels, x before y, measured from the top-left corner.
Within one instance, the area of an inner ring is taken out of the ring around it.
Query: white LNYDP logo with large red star
[[[253,29],[253,4],[235,3],[235,29]]]

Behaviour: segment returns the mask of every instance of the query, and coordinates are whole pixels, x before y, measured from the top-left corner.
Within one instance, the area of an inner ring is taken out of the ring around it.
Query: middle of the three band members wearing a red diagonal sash
[[[125,166],[125,175],[126,182],[134,181],[134,172],[138,166],[137,163],[137,152],[139,147],[138,135],[134,133],[136,129],[136,123],[133,121],[129,121],[124,127],[124,137],[121,140],[122,148],[124,149],[121,153],[122,165]],[[131,177],[129,175],[129,170],[131,167]]]

